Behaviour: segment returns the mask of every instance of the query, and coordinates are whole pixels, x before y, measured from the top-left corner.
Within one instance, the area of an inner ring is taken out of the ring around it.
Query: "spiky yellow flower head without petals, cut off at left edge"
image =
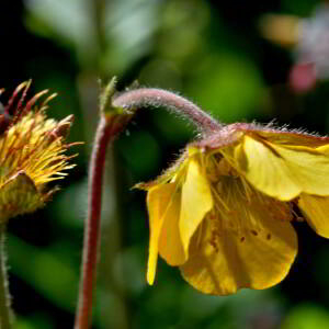
[[[42,207],[57,190],[47,190],[46,183],[64,178],[64,170],[73,167],[65,155],[72,145],[65,144],[72,115],[60,122],[46,117],[46,104],[55,94],[32,110],[47,91],[24,104],[30,84],[20,84],[8,104],[1,105],[0,223]]]

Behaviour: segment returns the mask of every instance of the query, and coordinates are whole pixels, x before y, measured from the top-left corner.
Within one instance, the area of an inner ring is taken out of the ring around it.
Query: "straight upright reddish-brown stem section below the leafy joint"
[[[128,116],[126,116],[128,118]],[[92,309],[92,292],[98,262],[100,218],[102,204],[102,180],[109,144],[125,127],[124,117],[105,118],[102,115],[91,155],[89,171],[88,214],[84,224],[82,277],[80,282],[78,310],[75,329],[88,329]]]

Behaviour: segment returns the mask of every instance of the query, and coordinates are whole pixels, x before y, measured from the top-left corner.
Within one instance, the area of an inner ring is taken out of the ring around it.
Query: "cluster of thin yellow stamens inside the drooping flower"
[[[218,248],[223,235],[234,235],[240,242],[249,238],[271,240],[263,225],[266,220],[292,220],[288,203],[266,196],[252,188],[225,158],[213,158],[207,167],[214,208],[206,216],[211,228],[209,243]]]

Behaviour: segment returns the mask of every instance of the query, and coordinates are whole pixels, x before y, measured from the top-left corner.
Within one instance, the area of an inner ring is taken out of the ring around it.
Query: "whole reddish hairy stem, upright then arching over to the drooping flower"
[[[92,309],[92,291],[97,270],[100,218],[102,204],[102,179],[105,164],[107,145],[125,128],[133,113],[139,107],[156,106],[166,107],[171,112],[183,115],[194,123],[202,133],[211,133],[223,126],[200,107],[175,93],[152,88],[141,88],[123,92],[111,99],[111,105],[106,113],[107,102],[113,91],[109,84],[104,90],[105,100],[101,102],[101,121],[98,126],[93,145],[90,172],[89,172],[89,201],[88,215],[84,225],[82,279],[79,290],[78,309],[75,329],[88,329]],[[126,113],[118,110],[123,107]],[[129,114],[128,110],[133,110]]]

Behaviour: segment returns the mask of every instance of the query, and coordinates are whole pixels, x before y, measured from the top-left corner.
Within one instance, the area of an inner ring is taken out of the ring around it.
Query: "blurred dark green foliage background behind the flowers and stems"
[[[33,92],[58,92],[49,116],[73,113],[70,140],[86,141],[75,148],[78,166],[54,201],[9,224],[15,329],[73,325],[98,79],[117,76],[118,89],[137,79],[179,91],[225,123],[275,118],[328,134],[329,83],[294,93],[286,83],[294,52],[263,39],[258,27],[265,13],[308,16],[316,3],[2,1],[0,86],[13,90],[33,78]],[[163,261],[155,286],[146,285],[145,194],[129,189],[158,175],[193,136],[191,126],[161,109],[140,111],[109,151],[93,328],[329,328],[329,241],[305,223],[296,225],[299,253],[291,273],[271,290],[201,295]]]

